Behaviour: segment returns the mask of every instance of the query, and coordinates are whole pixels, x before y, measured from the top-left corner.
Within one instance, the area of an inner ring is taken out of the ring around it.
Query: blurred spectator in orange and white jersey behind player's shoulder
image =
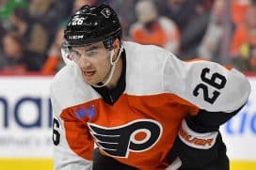
[[[137,2],[136,17],[137,22],[131,26],[132,40],[142,44],[158,45],[178,54],[179,29],[171,20],[158,15],[158,10],[152,0]]]

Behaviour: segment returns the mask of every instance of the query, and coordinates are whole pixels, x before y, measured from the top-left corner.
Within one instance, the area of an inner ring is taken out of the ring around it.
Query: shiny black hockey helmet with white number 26
[[[103,41],[111,50],[114,39],[120,39],[120,20],[113,8],[102,4],[78,9],[64,31],[66,47],[83,46]]]

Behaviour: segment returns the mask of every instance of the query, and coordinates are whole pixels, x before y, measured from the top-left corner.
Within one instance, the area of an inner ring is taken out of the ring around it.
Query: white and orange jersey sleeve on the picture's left
[[[53,142],[54,142],[54,169],[92,169],[92,152],[94,144],[90,140],[85,125],[76,121],[72,116],[63,114],[56,100],[55,91],[51,88],[53,106]]]

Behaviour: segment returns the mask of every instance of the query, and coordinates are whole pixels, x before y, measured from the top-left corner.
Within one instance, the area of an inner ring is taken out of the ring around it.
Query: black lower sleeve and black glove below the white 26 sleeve
[[[176,160],[174,165],[181,164],[180,169],[229,169],[226,146],[218,129],[242,108],[231,113],[200,110],[197,116],[185,117],[168,161],[173,163]]]

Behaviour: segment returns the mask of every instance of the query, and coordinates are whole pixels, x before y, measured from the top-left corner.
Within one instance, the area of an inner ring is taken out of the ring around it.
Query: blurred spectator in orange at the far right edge
[[[232,61],[240,70],[256,70],[256,3],[248,7],[246,23],[232,37]]]

